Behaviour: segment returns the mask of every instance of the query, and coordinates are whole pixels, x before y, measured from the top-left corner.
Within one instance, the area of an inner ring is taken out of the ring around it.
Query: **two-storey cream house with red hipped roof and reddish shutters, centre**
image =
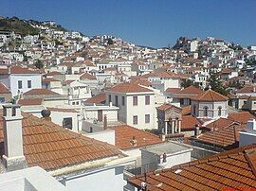
[[[155,92],[136,83],[124,82],[106,92],[106,104],[119,107],[119,121],[141,129],[156,128]]]

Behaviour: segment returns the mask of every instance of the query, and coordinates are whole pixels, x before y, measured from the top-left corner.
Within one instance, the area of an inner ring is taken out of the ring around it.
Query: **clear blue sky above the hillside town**
[[[256,0],[0,0],[0,15],[154,47],[180,36],[256,44]]]

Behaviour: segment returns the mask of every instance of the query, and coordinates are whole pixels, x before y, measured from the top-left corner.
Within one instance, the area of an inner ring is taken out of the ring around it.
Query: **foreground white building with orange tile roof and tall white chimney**
[[[6,132],[1,139],[6,148],[1,172],[39,165],[66,190],[102,190],[103,186],[106,191],[119,191],[126,184],[123,168],[131,161],[119,148],[66,130],[52,123],[47,113],[41,119],[24,115],[19,105],[4,107],[1,123],[1,133]],[[49,185],[54,186],[45,184],[46,188]]]

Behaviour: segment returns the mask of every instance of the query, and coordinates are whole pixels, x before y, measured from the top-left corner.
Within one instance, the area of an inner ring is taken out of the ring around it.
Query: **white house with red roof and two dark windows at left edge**
[[[12,96],[18,96],[31,89],[42,88],[42,77],[38,71],[20,66],[11,66],[0,69],[0,76],[0,81],[9,88]]]

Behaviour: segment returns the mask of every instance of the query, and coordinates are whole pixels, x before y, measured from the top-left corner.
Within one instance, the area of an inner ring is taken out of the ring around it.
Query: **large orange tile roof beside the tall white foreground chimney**
[[[107,143],[65,130],[36,116],[23,115],[23,147],[28,166],[54,170],[120,154],[118,148]],[[0,142],[4,141],[3,123],[1,118]]]

